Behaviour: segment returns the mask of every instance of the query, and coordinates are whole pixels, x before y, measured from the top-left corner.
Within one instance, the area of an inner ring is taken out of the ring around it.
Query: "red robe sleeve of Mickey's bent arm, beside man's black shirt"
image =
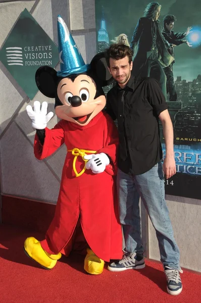
[[[110,175],[117,174],[117,157],[119,148],[119,135],[117,127],[112,118],[104,113],[106,118],[104,128],[104,146],[97,151],[97,154],[105,153],[110,158],[110,164],[106,166],[106,172]]]

